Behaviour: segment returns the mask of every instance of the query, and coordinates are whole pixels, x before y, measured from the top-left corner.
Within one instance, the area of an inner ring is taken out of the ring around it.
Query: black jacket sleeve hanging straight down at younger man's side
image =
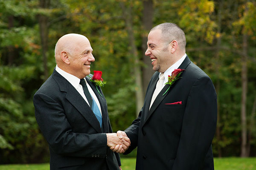
[[[198,170],[211,146],[217,122],[217,96],[209,77],[199,77],[191,88],[183,116],[172,170]]]

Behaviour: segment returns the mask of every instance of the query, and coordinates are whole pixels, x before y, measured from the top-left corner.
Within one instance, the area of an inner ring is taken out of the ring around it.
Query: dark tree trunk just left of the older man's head
[[[39,0],[41,8],[49,8],[50,0]],[[47,50],[48,50],[48,18],[47,16],[39,15],[40,38],[42,45],[43,65],[44,65],[44,81],[48,78],[47,67]]]

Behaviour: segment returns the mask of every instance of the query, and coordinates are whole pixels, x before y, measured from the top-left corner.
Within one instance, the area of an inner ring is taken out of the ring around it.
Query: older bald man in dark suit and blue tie
[[[89,81],[89,40],[66,34],[55,46],[56,67],[34,95],[35,118],[49,144],[51,170],[121,170],[118,153],[130,140],[112,132],[102,90]],[[91,75],[92,76],[92,75]]]

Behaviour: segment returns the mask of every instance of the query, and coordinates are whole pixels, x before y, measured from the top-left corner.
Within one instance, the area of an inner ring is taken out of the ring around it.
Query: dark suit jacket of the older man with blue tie
[[[119,154],[107,146],[112,133],[107,103],[86,78],[102,110],[103,131],[87,102],[57,71],[34,95],[35,118],[49,144],[51,170],[119,170]]]

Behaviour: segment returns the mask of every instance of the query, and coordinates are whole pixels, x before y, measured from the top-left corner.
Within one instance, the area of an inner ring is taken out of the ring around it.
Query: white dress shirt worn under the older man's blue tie
[[[89,102],[84,94],[84,90],[82,85],[80,85],[80,79],[72,74],[67,73],[66,71],[61,70],[61,68],[58,67],[58,65],[56,65],[55,70],[61,74],[62,77],[64,77],[65,79],[67,79],[68,82],[70,82],[71,85],[73,85],[73,87],[79,92],[79,94],[84,98],[84,100],[87,102],[87,104],[89,105]],[[99,100],[97,98],[97,96],[94,94],[93,89],[90,87],[90,85],[88,84],[88,82],[86,81],[86,79],[84,79],[87,85],[87,88],[90,92],[90,95],[93,97],[93,99],[95,100],[96,104],[98,105],[99,111],[102,114],[101,111],[101,107],[99,104]],[[89,105],[90,106],[90,105]]]

